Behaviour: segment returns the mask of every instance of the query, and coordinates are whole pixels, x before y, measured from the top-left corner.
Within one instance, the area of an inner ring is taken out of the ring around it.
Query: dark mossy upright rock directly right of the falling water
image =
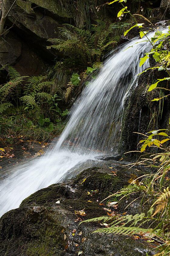
[[[150,59],[150,66],[155,66],[155,63],[151,62],[155,62],[153,58]],[[138,85],[136,86],[136,83],[134,83],[131,87],[124,102],[120,152],[140,150],[140,145],[139,148],[137,148],[137,145],[139,140],[144,139],[144,136],[137,133],[146,134],[151,130],[169,129],[169,99],[167,98],[166,101],[151,101],[165,95],[166,91],[154,90],[148,92],[148,86],[153,81],[165,76],[165,71],[148,70],[138,78]],[[161,87],[166,88],[167,83],[162,83]],[[162,92],[163,94],[161,94]],[[163,137],[159,139],[163,139]]]

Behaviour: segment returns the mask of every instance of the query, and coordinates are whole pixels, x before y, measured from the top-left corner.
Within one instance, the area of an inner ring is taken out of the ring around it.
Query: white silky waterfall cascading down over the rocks
[[[39,159],[16,165],[0,183],[0,216],[17,208],[36,190],[62,180],[68,170],[94,159],[99,155],[97,149],[108,150],[115,137],[111,127],[114,120],[121,120],[124,97],[137,74],[148,66],[146,62],[140,68],[139,58],[149,47],[143,38],[135,38],[108,58],[97,79],[84,88],[71,109],[70,120],[55,147]]]

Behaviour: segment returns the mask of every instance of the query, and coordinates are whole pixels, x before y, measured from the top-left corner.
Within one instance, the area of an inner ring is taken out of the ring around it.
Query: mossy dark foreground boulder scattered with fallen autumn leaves
[[[109,166],[113,166],[113,169],[109,169]],[[137,176],[144,174],[142,171],[139,174],[136,170],[128,170],[114,161],[107,162],[84,170],[73,180],[53,184],[32,194],[22,201],[18,209],[1,217],[0,255],[73,256],[78,252],[82,252],[82,256],[142,256],[146,252],[153,255],[154,252],[149,252],[150,245],[141,239],[92,233],[101,227],[98,222],[78,226],[78,218],[84,220],[107,215],[103,209],[106,205],[100,205],[100,200],[128,184],[130,172]],[[118,209],[121,214],[124,203]],[[128,214],[139,212],[139,205],[128,207]],[[86,215],[75,214],[74,211],[80,210],[84,210]],[[73,229],[76,229],[74,235]]]

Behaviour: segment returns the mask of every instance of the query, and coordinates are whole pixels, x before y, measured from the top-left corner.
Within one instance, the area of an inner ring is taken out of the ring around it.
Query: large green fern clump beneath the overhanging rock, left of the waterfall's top
[[[70,24],[65,25],[70,30],[60,28],[60,34],[66,40],[50,38],[48,41],[53,45],[47,48],[63,51],[70,58],[78,59],[83,65],[87,62],[100,61],[101,56],[109,50],[109,46],[114,46],[116,43],[110,37],[110,33],[114,30],[113,23],[106,25],[103,21],[98,21],[97,26],[92,25],[90,30],[77,28]]]

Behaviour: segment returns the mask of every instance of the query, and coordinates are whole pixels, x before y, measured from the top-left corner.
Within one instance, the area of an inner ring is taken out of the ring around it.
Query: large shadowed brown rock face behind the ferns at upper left
[[[7,2],[9,9],[13,0]],[[95,1],[80,2],[17,0],[0,39],[0,66],[11,64],[22,76],[37,76],[53,65],[56,57],[63,58],[61,52],[46,49],[47,39],[60,38],[60,28],[66,23],[79,26],[102,18]]]

